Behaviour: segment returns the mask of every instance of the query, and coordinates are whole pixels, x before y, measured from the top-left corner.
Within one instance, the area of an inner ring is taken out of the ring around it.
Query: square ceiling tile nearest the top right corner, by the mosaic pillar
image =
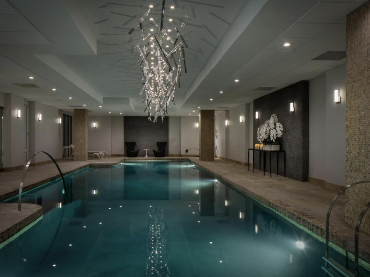
[[[322,2],[303,16],[302,23],[339,23],[347,14],[358,8],[360,3],[328,3]]]

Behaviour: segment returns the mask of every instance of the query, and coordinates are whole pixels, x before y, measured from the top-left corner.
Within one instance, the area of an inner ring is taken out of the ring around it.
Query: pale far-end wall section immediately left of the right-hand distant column
[[[182,116],[181,117],[181,154],[198,155],[197,150],[190,150],[186,153],[186,149],[199,149],[199,128],[196,128],[196,123],[199,123],[198,116]]]

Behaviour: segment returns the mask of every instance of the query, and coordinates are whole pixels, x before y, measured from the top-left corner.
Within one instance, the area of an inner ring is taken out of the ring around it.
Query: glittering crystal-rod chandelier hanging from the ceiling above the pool
[[[148,119],[157,122],[158,117],[162,121],[170,104],[175,105],[175,91],[176,86],[180,88],[180,77],[184,69],[186,69],[184,46],[187,48],[186,41],[181,35],[184,30],[185,16],[180,28],[175,28],[176,37],[172,37],[163,29],[165,11],[165,0],[162,2],[161,21],[160,25],[156,23],[154,18],[148,18],[151,12],[149,9],[139,21],[136,27],[132,28],[129,34],[132,34],[136,29],[140,28],[141,42],[136,45],[139,52],[138,63],[143,74],[143,87],[140,95],[145,92],[142,103],[145,103],[145,112]],[[159,31],[159,34],[152,34],[145,32],[143,29],[143,21],[147,19],[154,28]],[[170,30],[167,30],[170,32]],[[154,119],[152,119],[152,116]]]

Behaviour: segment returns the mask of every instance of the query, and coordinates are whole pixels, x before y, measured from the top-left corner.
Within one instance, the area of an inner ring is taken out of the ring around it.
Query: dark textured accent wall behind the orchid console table
[[[294,103],[294,112],[289,111]],[[256,111],[259,119],[255,118]],[[272,114],[278,116],[283,125],[280,149],[286,151],[286,176],[299,181],[308,181],[309,139],[309,82],[300,81],[253,101],[253,144],[257,140],[257,128]],[[272,153],[272,173],[276,173],[276,153]],[[266,154],[266,170],[269,172],[269,154]],[[255,165],[259,165],[259,154],[255,153]],[[263,160],[262,160],[263,167]],[[279,174],[284,173],[283,155],[279,157]]]

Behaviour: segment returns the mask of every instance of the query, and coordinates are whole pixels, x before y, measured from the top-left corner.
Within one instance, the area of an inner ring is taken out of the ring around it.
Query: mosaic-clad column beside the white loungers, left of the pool
[[[88,160],[88,110],[74,109],[73,112],[73,145],[74,161]]]

